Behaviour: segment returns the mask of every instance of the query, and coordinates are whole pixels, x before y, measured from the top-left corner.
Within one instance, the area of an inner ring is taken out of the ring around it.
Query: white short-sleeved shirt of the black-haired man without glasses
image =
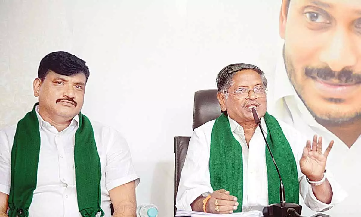
[[[37,110],[37,108],[36,108]],[[61,132],[45,122],[36,112],[40,128],[40,154],[36,189],[29,217],[79,217],[75,184],[74,145],[79,117]],[[129,147],[115,130],[91,122],[101,164],[101,208],[110,217],[109,191],[136,180]],[[16,125],[0,131],[0,192],[9,194],[11,182],[10,153]],[[100,216],[100,213],[98,213]]]

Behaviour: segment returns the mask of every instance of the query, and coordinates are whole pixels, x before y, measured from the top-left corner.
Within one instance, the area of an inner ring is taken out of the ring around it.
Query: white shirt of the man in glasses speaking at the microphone
[[[245,141],[244,130],[234,120],[230,119],[230,127],[233,136],[242,146],[243,155],[243,207],[242,210],[262,209],[268,205],[268,178],[266,167],[266,143],[262,137],[261,130],[256,129],[249,142],[249,148]],[[207,122],[196,128],[193,132],[188,146],[187,156],[179,181],[176,199],[177,209],[191,210],[190,204],[202,193],[213,192],[209,175],[210,138],[215,120]],[[344,199],[345,193],[332,179],[331,174],[327,178],[332,186],[334,195],[330,204],[318,201],[312,192],[310,184],[305,175],[300,171],[299,161],[306,145],[306,138],[289,125],[279,122],[297,163],[297,172],[300,183],[300,194],[306,204],[313,210],[322,211],[331,208],[334,204]],[[264,118],[261,125],[267,135],[267,127]],[[227,190],[227,189],[226,189]]]

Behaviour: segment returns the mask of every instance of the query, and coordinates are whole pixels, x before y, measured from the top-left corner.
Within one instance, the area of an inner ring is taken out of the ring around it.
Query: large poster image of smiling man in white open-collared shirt
[[[332,216],[356,214],[360,204],[360,12],[359,0],[283,0],[284,46],[268,94],[276,118],[335,141],[327,165],[349,196]]]

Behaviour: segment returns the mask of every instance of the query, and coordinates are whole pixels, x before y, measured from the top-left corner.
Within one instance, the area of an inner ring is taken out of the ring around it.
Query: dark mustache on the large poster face
[[[305,68],[305,75],[313,79],[321,79],[324,81],[336,79],[341,84],[358,84],[361,83],[361,75],[351,70],[342,69],[339,72],[332,71],[329,67],[325,68]]]

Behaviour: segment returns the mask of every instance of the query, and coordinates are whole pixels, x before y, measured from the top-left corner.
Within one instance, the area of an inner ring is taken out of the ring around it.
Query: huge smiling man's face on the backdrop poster
[[[361,1],[283,0],[284,63],[317,122],[361,117]]]

